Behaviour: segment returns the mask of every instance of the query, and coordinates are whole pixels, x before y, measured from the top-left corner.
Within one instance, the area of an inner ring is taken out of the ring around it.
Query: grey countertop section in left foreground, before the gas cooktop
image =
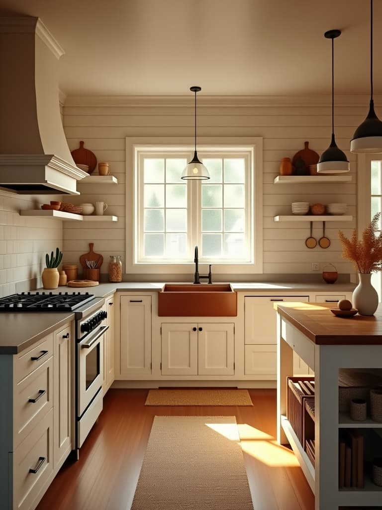
[[[0,315],[0,354],[17,354],[74,319],[67,314],[4,314]]]

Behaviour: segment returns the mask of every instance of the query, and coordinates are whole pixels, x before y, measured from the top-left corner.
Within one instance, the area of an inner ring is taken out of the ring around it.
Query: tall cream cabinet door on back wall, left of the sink
[[[121,374],[151,374],[151,296],[121,296]]]

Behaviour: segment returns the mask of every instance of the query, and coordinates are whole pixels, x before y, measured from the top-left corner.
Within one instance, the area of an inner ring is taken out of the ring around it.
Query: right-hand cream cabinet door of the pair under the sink
[[[233,324],[198,324],[198,374],[234,374]]]

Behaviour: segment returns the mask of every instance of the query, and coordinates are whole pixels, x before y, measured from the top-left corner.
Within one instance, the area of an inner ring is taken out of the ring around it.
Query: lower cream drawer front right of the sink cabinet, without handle
[[[276,345],[245,345],[245,375],[262,375],[264,379],[276,379]]]

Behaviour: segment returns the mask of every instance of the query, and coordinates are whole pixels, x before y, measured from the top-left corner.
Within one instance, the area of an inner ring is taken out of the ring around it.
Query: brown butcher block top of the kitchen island
[[[382,345],[382,303],[371,317],[336,317],[330,303],[274,303],[278,313],[317,345]]]

